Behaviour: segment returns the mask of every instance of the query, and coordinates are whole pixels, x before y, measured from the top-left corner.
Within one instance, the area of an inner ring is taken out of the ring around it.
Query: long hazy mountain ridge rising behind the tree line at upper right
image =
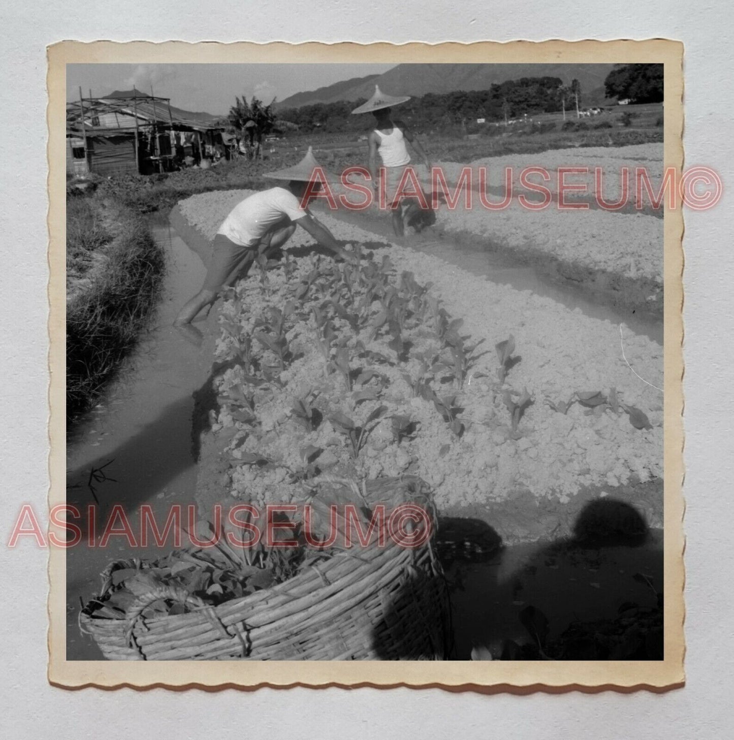
[[[398,64],[381,75],[353,78],[311,92],[298,92],[278,101],[275,108],[284,110],[370,98],[376,84],[389,95],[420,96],[427,92],[489,90],[493,84],[522,77],[559,77],[566,84],[578,79],[586,102],[586,93],[594,91],[594,98],[598,97],[598,89],[604,86],[604,79],[613,67],[613,64]]]

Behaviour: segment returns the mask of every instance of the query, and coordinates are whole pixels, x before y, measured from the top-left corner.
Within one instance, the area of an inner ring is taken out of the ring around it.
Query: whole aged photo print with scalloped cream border
[[[683,684],[683,54],[50,46],[50,682]]]

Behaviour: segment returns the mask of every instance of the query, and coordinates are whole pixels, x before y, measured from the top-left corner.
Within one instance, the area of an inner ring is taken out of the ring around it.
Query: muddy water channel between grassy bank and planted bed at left
[[[204,383],[211,363],[172,323],[201,285],[204,268],[167,221],[154,221],[153,231],[167,255],[153,326],[129,369],[67,439],[67,501],[80,511],[96,506],[97,525],[93,547],[86,544],[90,527],[84,522],[84,539],[67,551],[68,659],[101,659],[92,640],[80,636],[77,619],[80,600],[87,602],[99,592],[104,568],[113,560],[160,554],[155,543],[131,548],[123,536],[112,536],[107,547],[99,546],[113,506],[124,508],[138,537],[141,505],[151,506],[162,528],[170,505],[194,503],[192,394]]]

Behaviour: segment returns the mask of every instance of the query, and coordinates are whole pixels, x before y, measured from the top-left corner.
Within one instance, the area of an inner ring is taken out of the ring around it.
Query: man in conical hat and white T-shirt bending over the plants
[[[316,221],[307,209],[307,200],[321,189],[321,182],[314,176],[317,168],[323,173],[309,147],[298,164],[264,175],[286,181],[285,186],[256,192],[234,207],[214,238],[204,286],[181,309],[174,326],[190,324],[201,309],[208,309],[214,303],[223,288],[247,275],[258,255],[267,257],[283,246],[296,231],[297,224],[337,257],[348,261],[355,259],[339,246],[329,229]],[[307,191],[309,197],[306,199]]]

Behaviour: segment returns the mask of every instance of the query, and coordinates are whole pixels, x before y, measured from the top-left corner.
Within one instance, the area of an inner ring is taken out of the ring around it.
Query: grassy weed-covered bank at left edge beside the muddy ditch
[[[136,346],[164,272],[141,215],[99,195],[67,198],[67,423],[99,399]]]

